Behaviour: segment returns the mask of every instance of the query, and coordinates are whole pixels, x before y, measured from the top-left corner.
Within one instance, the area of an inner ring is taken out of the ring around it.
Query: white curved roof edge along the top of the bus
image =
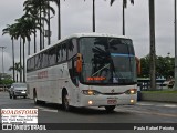
[[[65,38],[63,38],[63,39],[61,39],[61,40],[58,40],[55,43],[53,43],[53,44],[51,44],[51,45],[48,45],[45,49],[43,49],[43,50],[41,50],[41,51],[39,51],[39,52],[37,52],[37,53],[33,53],[33,54],[29,55],[28,59],[31,58],[31,57],[33,57],[33,55],[35,55],[35,54],[38,54],[38,53],[40,53],[40,52],[45,51],[46,49],[50,49],[50,48],[54,47],[55,44],[58,44],[58,43],[60,43],[60,42],[63,42],[63,41],[65,41],[65,40],[67,40],[67,39],[82,38],[82,37],[110,37],[110,38],[129,39],[129,38],[127,38],[127,37],[125,37],[125,35],[116,35],[116,34],[110,34],[110,33],[74,33],[74,34],[69,35],[69,37],[65,37]]]

